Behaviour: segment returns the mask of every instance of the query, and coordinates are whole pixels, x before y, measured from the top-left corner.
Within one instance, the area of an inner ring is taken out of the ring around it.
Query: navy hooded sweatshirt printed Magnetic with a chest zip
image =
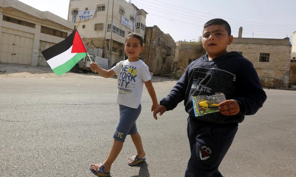
[[[225,116],[220,112],[195,117],[191,96],[223,93],[226,100],[238,102],[240,112]],[[173,110],[184,100],[185,110],[190,117],[213,123],[240,123],[244,115],[255,114],[266,100],[258,74],[253,64],[238,52],[229,52],[213,60],[207,54],[188,65],[184,75],[176,83],[160,105]]]

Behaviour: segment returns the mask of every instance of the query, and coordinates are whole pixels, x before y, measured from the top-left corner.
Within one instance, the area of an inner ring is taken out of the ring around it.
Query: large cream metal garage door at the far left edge
[[[0,62],[30,65],[33,53],[33,39],[1,33]]]

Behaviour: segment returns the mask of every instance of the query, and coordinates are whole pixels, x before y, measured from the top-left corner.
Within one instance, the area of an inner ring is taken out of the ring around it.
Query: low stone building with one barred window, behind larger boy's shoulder
[[[271,88],[287,88],[289,86],[291,59],[289,38],[234,37],[227,50],[240,52],[253,63],[262,86]]]

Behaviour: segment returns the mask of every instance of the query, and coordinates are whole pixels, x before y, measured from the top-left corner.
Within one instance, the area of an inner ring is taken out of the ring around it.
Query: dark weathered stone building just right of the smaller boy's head
[[[156,25],[146,27],[144,46],[140,57],[144,59],[150,72],[154,75],[173,72],[176,43],[169,34],[162,32]]]

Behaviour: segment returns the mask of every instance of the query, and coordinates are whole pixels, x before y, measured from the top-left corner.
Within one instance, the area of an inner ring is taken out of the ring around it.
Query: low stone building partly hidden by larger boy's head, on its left
[[[199,42],[176,42],[175,62],[178,63],[178,68],[175,70],[178,73],[184,73],[187,66],[194,60],[206,54],[202,47],[202,41]]]

